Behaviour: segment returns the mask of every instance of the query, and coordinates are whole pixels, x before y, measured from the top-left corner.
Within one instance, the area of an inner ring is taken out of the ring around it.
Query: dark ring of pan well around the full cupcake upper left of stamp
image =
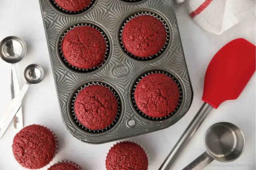
[[[89,27],[93,27],[95,29],[97,29],[99,32],[102,33],[102,35],[104,35],[104,39],[106,41],[106,51],[105,51],[105,58],[102,62],[102,64],[99,64],[99,66],[96,66],[96,67],[92,67],[90,69],[79,69],[75,66],[72,66],[71,64],[69,64],[67,62],[67,60],[62,56],[62,50],[61,50],[61,40],[63,39],[63,37],[65,36],[65,34],[68,32],[68,31],[71,31],[72,29],[71,28],[74,28],[74,27],[79,27],[79,26],[89,26]],[[61,31],[59,37],[58,37],[58,41],[57,41],[57,44],[56,44],[56,50],[57,50],[57,56],[60,60],[60,63],[69,71],[71,71],[72,73],[74,74],[81,74],[81,75],[89,75],[89,74],[93,74],[95,72],[98,72],[99,70],[101,70],[105,65],[106,63],[108,63],[109,59],[110,59],[110,56],[111,56],[111,53],[112,53],[112,47],[111,47],[111,40],[109,38],[109,35],[108,33],[105,31],[105,29],[103,29],[101,26],[99,26],[98,24],[94,23],[93,21],[84,21],[84,22],[78,22],[78,23],[73,23],[73,24],[70,24],[68,25],[67,27],[65,27],[63,29],[63,31]]]

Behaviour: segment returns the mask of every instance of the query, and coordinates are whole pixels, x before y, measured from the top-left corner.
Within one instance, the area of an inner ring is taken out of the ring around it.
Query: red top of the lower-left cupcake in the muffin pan
[[[79,92],[74,104],[75,115],[84,127],[102,130],[117,115],[117,99],[109,88],[92,85]]]

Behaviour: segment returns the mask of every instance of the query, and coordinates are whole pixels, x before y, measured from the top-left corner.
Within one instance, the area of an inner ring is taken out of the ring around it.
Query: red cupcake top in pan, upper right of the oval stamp
[[[166,29],[153,16],[142,15],[131,19],[123,29],[125,49],[139,58],[157,54],[165,45]]]

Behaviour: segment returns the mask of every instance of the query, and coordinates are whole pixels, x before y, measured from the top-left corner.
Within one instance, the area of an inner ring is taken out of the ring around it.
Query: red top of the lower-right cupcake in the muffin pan
[[[134,96],[136,105],[144,114],[160,118],[175,110],[180,92],[169,76],[157,73],[144,77],[137,84]]]

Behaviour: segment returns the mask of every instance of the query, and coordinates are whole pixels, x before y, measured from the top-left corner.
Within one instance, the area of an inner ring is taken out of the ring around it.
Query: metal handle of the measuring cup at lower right
[[[182,170],[202,170],[209,165],[214,159],[205,151],[202,155],[197,157],[193,162]]]

